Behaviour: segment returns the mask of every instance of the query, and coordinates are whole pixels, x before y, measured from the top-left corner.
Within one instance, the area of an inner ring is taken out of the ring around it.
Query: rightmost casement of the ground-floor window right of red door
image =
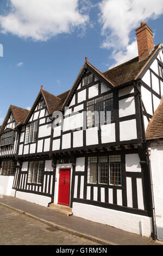
[[[110,156],[110,185],[122,185],[121,182],[121,156]]]

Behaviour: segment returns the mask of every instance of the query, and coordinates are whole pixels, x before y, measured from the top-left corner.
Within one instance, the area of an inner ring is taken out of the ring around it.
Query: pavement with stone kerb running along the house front
[[[26,200],[3,196],[0,205],[26,215],[50,227],[81,236],[99,245],[163,245],[162,241],[141,236],[76,216],[66,216],[54,209],[30,203]]]

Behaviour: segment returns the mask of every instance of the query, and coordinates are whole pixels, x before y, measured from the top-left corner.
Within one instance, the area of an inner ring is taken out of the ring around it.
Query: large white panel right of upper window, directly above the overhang
[[[136,119],[120,122],[120,141],[137,139]]]

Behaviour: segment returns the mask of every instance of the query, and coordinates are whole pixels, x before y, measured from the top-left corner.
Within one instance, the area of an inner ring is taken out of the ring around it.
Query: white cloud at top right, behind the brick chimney
[[[163,1],[103,0],[99,9],[101,47],[112,50],[111,58],[118,65],[137,56],[135,29],[141,21],[157,19],[163,13]]]

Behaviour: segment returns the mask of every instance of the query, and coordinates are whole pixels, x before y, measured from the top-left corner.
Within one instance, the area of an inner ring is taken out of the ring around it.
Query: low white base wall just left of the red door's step
[[[51,203],[51,197],[21,191],[16,191],[16,198],[27,200],[31,203],[40,204],[42,206],[48,206],[48,203]]]

